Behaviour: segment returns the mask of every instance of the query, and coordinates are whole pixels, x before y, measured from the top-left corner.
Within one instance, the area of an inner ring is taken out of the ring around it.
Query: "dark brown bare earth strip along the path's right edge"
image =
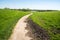
[[[50,36],[47,30],[40,27],[38,24],[34,23],[31,19],[28,19],[28,26],[32,29],[34,38],[37,40],[49,40]]]

